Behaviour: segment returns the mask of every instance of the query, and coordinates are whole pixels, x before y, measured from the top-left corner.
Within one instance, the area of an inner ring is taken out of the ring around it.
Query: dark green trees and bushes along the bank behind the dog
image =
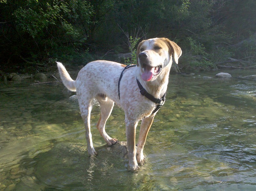
[[[230,56],[256,61],[255,41],[232,46],[255,36],[255,0],[0,0],[0,4],[1,63],[64,59],[86,64],[93,59],[90,55],[111,50],[132,52],[131,62],[136,63],[136,44],[154,37],[179,39],[186,53],[181,67],[188,63],[214,67],[212,63]],[[138,26],[143,34],[123,35],[122,30],[136,31]]]

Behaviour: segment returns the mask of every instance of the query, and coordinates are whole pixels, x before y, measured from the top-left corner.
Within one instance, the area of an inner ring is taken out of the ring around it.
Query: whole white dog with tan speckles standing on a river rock
[[[123,64],[105,60],[93,61],[79,71],[76,80],[72,80],[66,68],[57,62],[63,84],[69,90],[76,91],[86,130],[88,153],[91,157],[97,155],[92,144],[90,127],[92,100],[95,98],[100,105],[100,118],[96,127],[109,146],[118,143],[118,140],[106,133],[106,121],[114,103],[124,110],[129,158],[128,170],[137,171],[139,169],[138,164],[145,162],[143,148],[148,131],[158,109],[164,104],[172,56],[178,64],[181,53],[180,47],[167,38],[144,40],[138,45],[137,63],[133,65],[135,67],[125,68]],[[157,101],[160,100],[159,103],[146,97],[145,92]],[[142,121],[136,151],[135,133],[140,120]]]

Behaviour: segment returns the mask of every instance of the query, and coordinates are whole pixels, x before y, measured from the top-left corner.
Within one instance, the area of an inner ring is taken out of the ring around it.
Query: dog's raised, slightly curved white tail
[[[68,74],[68,71],[66,70],[65,66],[61,64],[60,62],[56,62],[57,67],[59,69],[60,78],[63,82],[63,84],[68,88],[70,91],[75,92],[76,91],[76,80],[72,80],[70,75]]]

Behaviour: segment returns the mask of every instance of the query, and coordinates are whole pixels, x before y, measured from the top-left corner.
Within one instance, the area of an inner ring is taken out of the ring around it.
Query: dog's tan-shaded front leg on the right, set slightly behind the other
[[[143,164],[145,162],[145,158],[143,155],[143,148],[146,142],[146,138],[148,135],[148,131],[153,123],[155,115],[152,115],[148,118],[143,118],[140,125],[140,135],[138,141],[138,149],[136,153],[137,162],[139,164]]]

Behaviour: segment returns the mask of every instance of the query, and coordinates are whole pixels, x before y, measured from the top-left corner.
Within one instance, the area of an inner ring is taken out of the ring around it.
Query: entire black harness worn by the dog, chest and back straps
[[[124,67],[124,70],[126,70],[127,68],[131,68],[131,67],[134,67],[136,65],[128,65],[128,66],[125,66]],[[121,75],[120,75],[120,78],[118,80],[118,97],[120,99],[120,81],[123,77],[123,73],[124,73],[124,70],[122,71]],[[152,96],[151,94],[149,94],[146,89],[143,88],[143,86],[141,85],[140,81],[136,78],[136,81],[137,81],[137,84],[138,84],[138,87],[140,88],[140,94],[142,96],[145,96],[147,97],[149,100],[151,100],[152,102],[156,103],[157,106],[156,106],[156,109],[154,111],[152,111],[151,115],[153,113],[156,113],[156,111],[158,111],[160,109],[160,107],[162,107],[164,105],[164,101],[165,101],[165,97],[166,97],[166,92],[164,93],[163,97],[161,99],[158,99],[154,96]]]

